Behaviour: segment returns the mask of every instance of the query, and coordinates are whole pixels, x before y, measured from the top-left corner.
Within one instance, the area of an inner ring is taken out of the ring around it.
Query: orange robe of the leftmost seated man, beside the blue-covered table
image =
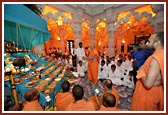
[[[26,102],[22,111],[44,111],[38,100]]]

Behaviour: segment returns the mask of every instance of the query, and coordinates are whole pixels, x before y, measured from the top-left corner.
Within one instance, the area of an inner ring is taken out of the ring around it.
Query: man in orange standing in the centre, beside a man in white
[[[90,54],[88,57],[88,79],[93,81],[94,84],[98,81],[98,65],[99,65],[99,54],[94,44],[90,46]]]

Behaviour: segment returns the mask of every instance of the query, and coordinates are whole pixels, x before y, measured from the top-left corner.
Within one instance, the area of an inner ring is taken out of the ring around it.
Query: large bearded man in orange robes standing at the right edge
[[[154,53],[137,73],[131,110],[164,110],[164,32],[151,35],[148,47]]]

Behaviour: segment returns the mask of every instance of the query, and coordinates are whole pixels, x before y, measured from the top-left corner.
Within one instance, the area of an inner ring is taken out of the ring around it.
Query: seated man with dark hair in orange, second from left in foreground
[[[58,111],[64,111],[67,105],[74,99],[72,93],[69,92],[70,83],[68,81],[64,81],[61,87],[63,92],[57,93],[56,95],[56,108]]]

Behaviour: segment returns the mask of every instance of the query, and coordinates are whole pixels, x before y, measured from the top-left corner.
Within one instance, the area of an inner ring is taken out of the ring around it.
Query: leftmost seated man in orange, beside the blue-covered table
[[[22,111],[43,111],[42,106],[38,102],[39,92],[33,88],[26,91],[24,98],[26,103],[23,105]]]

